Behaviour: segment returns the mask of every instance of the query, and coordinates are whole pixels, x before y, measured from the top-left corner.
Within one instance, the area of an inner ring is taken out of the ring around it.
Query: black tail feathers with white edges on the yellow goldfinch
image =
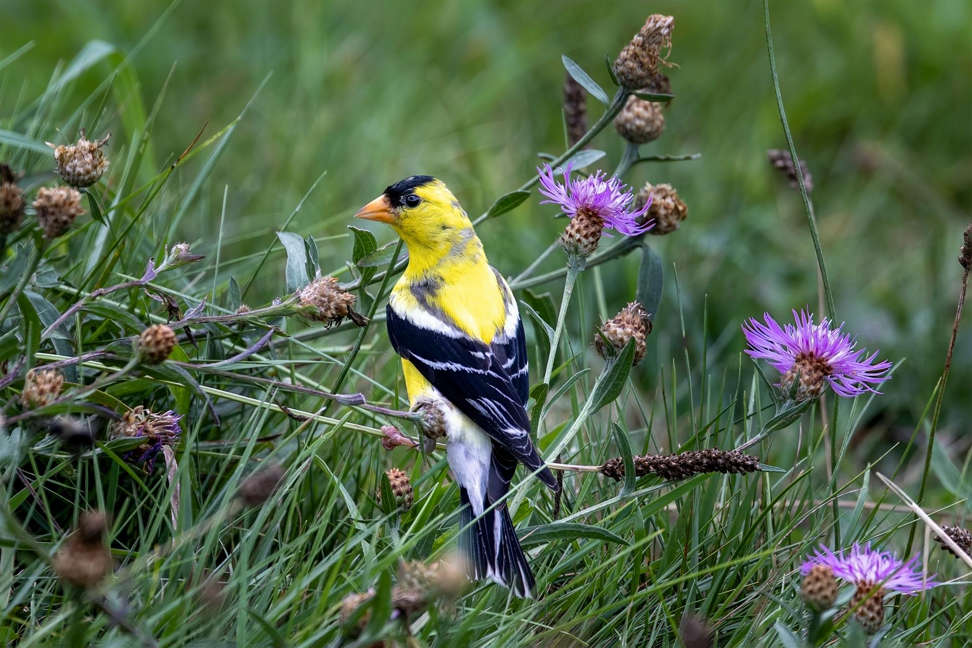
[[[472,513],[466,489],[459,491],[463,502],[461,522],[465,529],[460,546],[467,557],[469,577],[492,578],[517,597],[533,598],[537,582],[520,548],[506,504],[487,510],[477,518]],[[489,503],[484,503],[483,508],[489,508]]]

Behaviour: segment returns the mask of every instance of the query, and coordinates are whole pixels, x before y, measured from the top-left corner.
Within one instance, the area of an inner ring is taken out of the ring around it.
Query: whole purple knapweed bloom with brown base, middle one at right
[[[743,324],[746,353],[780,370],[783,392],[790,392],[799,374],[797,400],[816,398],[828,384],[842,396],[880,393],[874,386],[890,378],[890,362],[875,363],[878,352],[868,356],[865,349],[855,349],[856,341],[843,324],[833,328],[827,318],[814,324],[814,316],[805,311],[793,311],[793,319],[796,324],[781,326],[764,313],[765,324],[751,318]]]

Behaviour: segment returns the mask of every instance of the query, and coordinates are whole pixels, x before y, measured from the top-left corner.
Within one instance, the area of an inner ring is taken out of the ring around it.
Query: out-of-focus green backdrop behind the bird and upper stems
[[[478,214],[533,173],[537,152],[562,151],[561,54],[609,86],[605,54],[613,57],[649,13],[676,17],[677,99],[665,134],[642,151],[702,157],[643,164],[628,179],[671,183],[689,207],[676,234],[652,239],[668,274],[647,366],[681,357],[677,271],[692,357],[701,358],[708,300],[709,370],[734,376],[745,317],[766,310],[785,319],[804,305],[819,312],[799,195],[766,161],[767,149],[785,143],[759,3],[0,0],[0,58],[31,44],[2,72],[0,119],[43,93],[57,66],[89,41],[137,50],[147,108],[168,79],[154,157],[140,179],[148,182],[204,123],[205,138],[235,119],[272,72],[209,182],[186,204],[178,238],[202,253],[215,248],[226,188],[223,255],[237,260],[224,264],[220,281],[232,274],[242,284],[255,267],[245,255],[265,249],[327,171],[289,229],[336,237],[321,241],[322,265],[341,269],[351,249],[345,225],[386,185],[433,174]],[[816,0],[773,2],[771,13],[783,99],[813,173],[838,315],[869,349],[907,358],[867,426],[882,443],[907,441],[941,374],[958,292],[955,256],[972,212],[972,8]],[[109,69],[100,64],[69,87],[60,99],[65,119]],[[114,133],[111,155],[132,137],[125,105],[92,133]],[[596,101],[589,111],[600,114]],[[23,124],[0,127],[15,126]],[[73,138],[74,125],[66,128]],[[594,147],[608,152],[609,169],[622,142],[608,130]],[[167,189],[172,209],[208,154],[177,172]],[[50,161],[38,153],[32,163]],[[563,222],[550,221],[551,213],[530,200],[480,227],[503,274],[519,273],[553,240]],[[379,242],[391,239],[375,231]],[[157,243],[165,232],[150,226],[142,234]],[[274,258],[248,301],[283,291],[282,253]],[[543,268],[562,262],[553,255]],[[631,298],[637,263],[632,256],[604,268],[608,315]],[[559,298],[559,286],[551,290]],[[961,436],[972,402],[970,358],[966,325],[939,437],[953,454],[968,449]],[[652,370],[640,375],[654,387]]]

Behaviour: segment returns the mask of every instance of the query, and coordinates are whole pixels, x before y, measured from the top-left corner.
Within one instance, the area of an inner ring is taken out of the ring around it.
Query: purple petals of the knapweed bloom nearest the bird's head
[[[635,196],[631,188],[621,184],[617,176],[609,179],[604,171],[598,171],[587,178],[571,180],[573,162],[566,168],[559,169],[564,174],[564,184],[554,180],[554,171],[549,164],[537,168],[540,179],[540,193],[548,200],[540,204],[554,203],[560,205],[572,219],[577,215],[600,219],[604,227],[614,229],[625,236],[637,236],[651,229],[654,221],[639,223],[651,206],[648,200],[641,209],[629,212],[628,208]]]

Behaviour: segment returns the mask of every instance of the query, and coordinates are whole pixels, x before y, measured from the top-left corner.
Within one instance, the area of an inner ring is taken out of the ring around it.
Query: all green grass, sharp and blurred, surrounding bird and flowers
[[[674,234],[648,237],[664,270],[648,354],[620,372],[623,389],[589,416],[585,404],[610,370],[591,348],[595,324],[634,298],[642,256],[578,275],[548,394],[587,372],[550,404],[538,445],[549,451],[564,442],[563,461],[581,465],[615,457],[625,444],[636,454],[738,446],[775,413],[771,392],[741,353],[740,324],[763,311],[780,319],[807,304],[821,313],[800,194],[765,158],[786,140],[762,10],[752,3],[605,7],[0,4],[0,161],[25,173],[30,198],[55,180],[45,141],[73,140],[79,127],[112,133],[111,167],[84,199],[88,215],[47,246],[43,260],[33,256],[39,239],[28,216],[0,257],[0,304],[9,308],[0,322],[0,376],[18,371],[0,389],[6,419],[22,412],[28,367],[113,354],[66,367],[66,393],[99,381],[97,389],[40,412],[93,422],[93,451],[73,456],[45,435],[36,415],[4,427],[0,499],[12,516],[0,528],[5,640],[674,647],[683,616],[694,613],[709,619],[720,647],[790,645],[786,629],[798,637],[806,622],[799,564],[834,537],[835,511],[842,545],[870,541],[898,554],[911,547],[939,580],[955,579],[923,597],[889,599],[881,645],[970,640],[969,570],[931,542],[877,476],[913,497],[926,480],[922,508],[940,524],[968,526],[972,450],[963,431],[972,346],[961,329],[930,465],[924,461],[955,316],[955,256],[972,211],[972,83],[964,74],[972,48],[961,3],[770,8],[782,103],[814,176],[835,310],[862,345],[896,362],[885,393],[844,399],[839,412],[828,394],[825,409],[812,408],[750,450],[781,472],[615,484],[567,471],[560,522],[585,528],[550,527],[552,497],[536,480],[517,482],[510,502],[521,535],[546,533],[542,542],[525,542],[538,600],[480,583],[411,618],[411,638],[399,621],[386,623],[399,561],[431,561],[454,547],[459,495],[441,450],[422,456],[381,447],[380,426],[417,436],[412,422],[316,393],[361,392],[372,405],[407,409],[380,318],[366,329],[329,329],[274,317],[266,324],[280,332],[267,346],[219,367],[203,365],[252,347],[266,326],[192,324],[195,344],[177,330],[180,350],[168,362],[135,366],[111,382],[104,378],[131,357],[128,340],[166,321],[162,303],[145,290],[91,300],[42,339],[56,313],[90,290],[138,279],[150,257],[182,240],[206,258],[161,273],[150,288],[183,314],[203,300],[202,314],[220,316],[240,299],[258,308],[286,296],[281,230],[312,237],[321,271],[351,281],[361,270],[351,262],[350,216],[406,175],[434,174],[470,215],[485,212],[530,180],[536,153],[565,150],[561,54],[610,94],[605,52],[613,56],[644,13],[657,11],[676,17],[671,60],[678,67],[670,76],[677,98],[665,134],[642,154],[702,154],[641,163],[625,179],[636,187],[673,184],[688,220]],[[592,122],[602,112],[593,99],[588,110]],[[592,146],[607,153],[596,165],[608,170],[624,151],[610,127]],[[96,206],[105,225],[92,218]],[[552,213],[535,193],[477,227],[504,275],[518,276],[563,228]],[[392,241],[387,230],[374,234],[377,245]],[[368,244],[364,236],[360,245]],[[34,258],[37,272],[27,273]],[[532,292],[517,290],[550,326],[563,269],[556,250],[535,272],[556,276]],[[657,271],[648,276],[657,287]],[[356,290],[365,313],[372,305],[382,312],[381,278]],[[536,385],[549,341],[524,317]],[[136,405],[186,414],[171,481],[161,457],[146,474],[123,459],[130,444],[107,440],[105,410]],[[829,479],[834,439],[837,470]],[[270,462],[286,468],[276,494],[256,508],[235,505],[241,480]],[[405,513],[375,501],[379,477],[393,465],[415,489]],[[49,561],[87,508],[112,515],[117,571],[79,597]],[[354,620],[342,626],[341,600],[368,589],[377,593],[370,621],[355,637]],[[835,623],[820,643],[861,645],[852,623]]]

